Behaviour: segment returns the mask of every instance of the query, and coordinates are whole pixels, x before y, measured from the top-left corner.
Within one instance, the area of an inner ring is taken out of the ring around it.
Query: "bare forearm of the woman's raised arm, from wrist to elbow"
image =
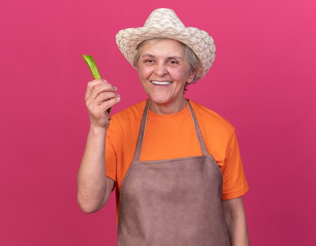
[[[106,134],[106,129],[90,128],[78,171],[77,200],[81,209],[87,213],[95,212],[101,208],[107,192],[104,161]]]

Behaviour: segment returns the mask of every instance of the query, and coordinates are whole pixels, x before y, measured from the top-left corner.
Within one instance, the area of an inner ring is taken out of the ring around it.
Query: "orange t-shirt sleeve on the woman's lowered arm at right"
[[[223,174],[222,200],[230,200],[244,195],[248,190],[239,146],[235,131],[227,145]]]

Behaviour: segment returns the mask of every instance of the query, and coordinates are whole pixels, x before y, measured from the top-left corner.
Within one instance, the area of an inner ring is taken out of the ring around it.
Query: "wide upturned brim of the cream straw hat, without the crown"
[[[214,40],[207,32],[194,27],[127,28],[117,33],[116,42],[122,54],[134,67],[134,55],[138,44],[151,38],[171,38],[189,46],[198,57],[201,65],[195,80],[204,77],[213,65],[216,53]]]

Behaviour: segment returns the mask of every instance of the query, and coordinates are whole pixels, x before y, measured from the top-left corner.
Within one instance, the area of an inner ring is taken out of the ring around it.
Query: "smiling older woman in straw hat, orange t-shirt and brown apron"
[[[106,110],[120,101],[117,88],[88,83],[81,209],[98,211],[116,188],[118,245],[248,245],[235,130],[184,97],[213,64],[212,37],[157,9],[144,27],[121,30],[117,43],[149,99],[113,115],[110,126]]]

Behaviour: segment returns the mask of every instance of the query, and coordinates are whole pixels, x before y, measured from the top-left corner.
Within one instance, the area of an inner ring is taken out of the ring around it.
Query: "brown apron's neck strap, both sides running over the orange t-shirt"
[[[201,131],[200,131],[200,127],[198,126],[198,122],[197,122],[195,113],[194,113],[193,108],[188,100],[187,100],[187,104],[189,107],[191,117],[192,117],[193,122],[194,122],[195,132],[196,132],[202,153],[204,156],[209,156],[207,149],[205,147],[205,143],[204,143]],[[138,141],[137,141],[137,146],[136,146],[136,151],[135,151],[133,161],[139,161],[140,152],[141,152],[141,148],[142,148],[143,140],[144,140],[144,135],[145,135],[145,129],[146,129],[146,123],[147,123],[147,117],[148,117],[148,109],[149,109],[149,100],[147,100],[147,102],[146,102],[146,106],[145,106],[143,116],[141,119],[141,124],[140,124],[140,129],[139,129],[139,134],[138,134]]]

